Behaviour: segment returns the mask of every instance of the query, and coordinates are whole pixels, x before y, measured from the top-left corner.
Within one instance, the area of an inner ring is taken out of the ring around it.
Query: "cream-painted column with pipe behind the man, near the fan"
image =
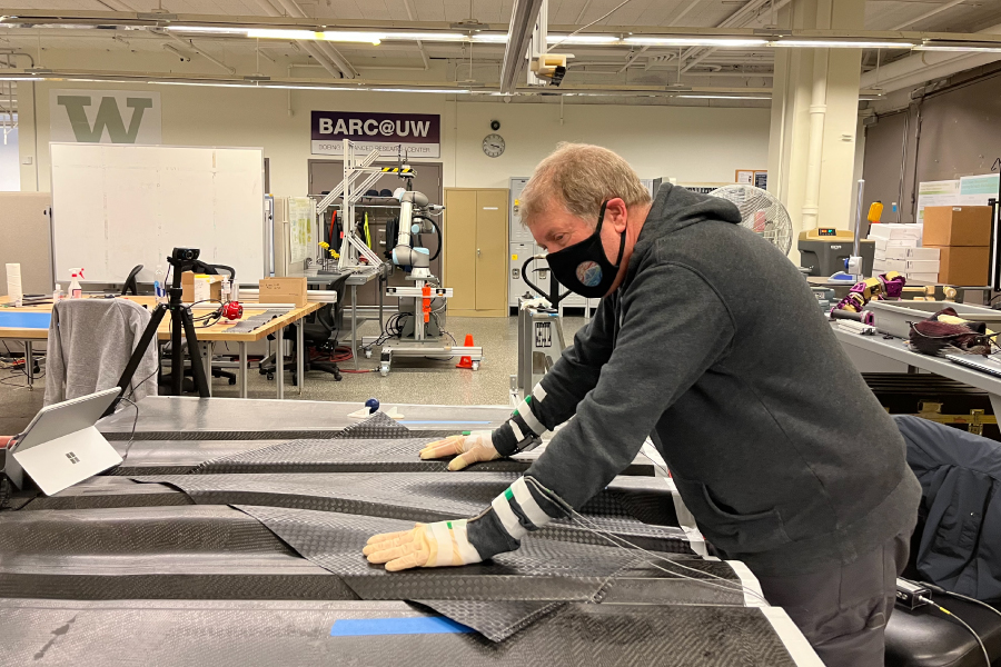
[[[793,0],[779,24],[861,30],[864,14],[865,0]],[[861,59],[861,49],[776,49],[769,190],[789,209],[794,239],[852,225]]]

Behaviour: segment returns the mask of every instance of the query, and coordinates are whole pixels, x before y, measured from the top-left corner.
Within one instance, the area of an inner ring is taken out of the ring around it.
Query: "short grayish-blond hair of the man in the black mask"
[[[616,153],[589,143],[559,143],[522,190],[521,217],[532,225],[556,206],[595,226],[602,202],[616,197],[628,207],[650,202],[650,191]]]

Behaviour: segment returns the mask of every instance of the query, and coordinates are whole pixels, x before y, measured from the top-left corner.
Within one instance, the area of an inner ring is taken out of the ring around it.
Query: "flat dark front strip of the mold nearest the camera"
[[[503,644],[469,634],[330,636],[344,620],[424,616],[387,603],[0,600],[0,633],[4,664],[40,667],[796,665],[760,609],[735,607],[571,604]]]

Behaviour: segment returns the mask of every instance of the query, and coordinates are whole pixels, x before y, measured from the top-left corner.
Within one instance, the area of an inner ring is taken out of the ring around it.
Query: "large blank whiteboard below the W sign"
[[[136,265],[152,282],[175,247],[231,266],[240,282],[264,278],[264,149],[49,145],[52,267],[69,280],[122,282]]]

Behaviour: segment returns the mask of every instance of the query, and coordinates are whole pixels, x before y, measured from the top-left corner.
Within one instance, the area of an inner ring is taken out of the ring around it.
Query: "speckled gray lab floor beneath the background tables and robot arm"
[[[378,374],[378,349],[373,358],[358,359],[361,370],[374,372],[344,372],[339,382],[334,376],[311,371],[306,376],[303,394],[291,385],[291,375],[286,374],[285,398],[291,400],[343,400],[359,401],[375,397],[387,404],[439,404],[439,405],[507,405],[511,376],[517,371],[517,317],[509,318],[448,318],[448,330],[459,345],[467,334],[473,335],[475,345],[483,346],[484,360],[479,370],[455,368],[458,358],[449,361],[398,358],[393,360],[389,375]],[[584,325],[583,317],[565,317],[564,336],[567,345]],[[359,327],[363,336],[378,334],[377,322],[366,322]],[[344,341],[341,341],[344,342]],[[236,346],[231,346],[234,354]],[[216,354],[225,354],[217,347]],[[339,365],[341,370],[354,368],[353,361]],[[212,396],[237,397],[238,387],[230,386],[224,378],[212,380]],[[268,381],[256,369],[248,378],[250,398],[275,398],[275,382]],[[23,429],[41,408],[44,397],[44,378],[38,380],[33,391],[27,390],[27,381],[20,372],[0,370],[0,435],[17,434]]]

